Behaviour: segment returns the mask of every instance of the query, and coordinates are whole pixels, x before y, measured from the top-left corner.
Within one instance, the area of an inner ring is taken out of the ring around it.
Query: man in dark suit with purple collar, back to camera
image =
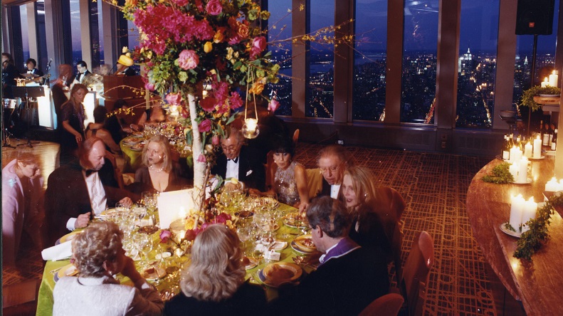
[[[322,253],[319,267],[296,287],[280,288],[271,305],[280,315],[358,315],[377,297],[389,293],[382,253],[352,241],[352,215],[341,201],[322,196],[307,208],[312,241]],[[291,305],[291,311],[283,306]]]

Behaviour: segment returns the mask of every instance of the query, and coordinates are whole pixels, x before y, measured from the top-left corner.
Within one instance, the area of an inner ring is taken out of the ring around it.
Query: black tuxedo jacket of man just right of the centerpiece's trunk
[[[220,154],[217,157],[211,174],[217,174],[223,178],[227,173],[227,157]],[[243,181],[247,188],[265,191],[265,167],[262,157],[254,149],[243,146],[241,154],[238,155],[238,180]]]

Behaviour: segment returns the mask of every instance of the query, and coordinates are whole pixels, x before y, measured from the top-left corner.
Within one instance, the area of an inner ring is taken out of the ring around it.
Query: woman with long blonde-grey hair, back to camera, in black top
[[[241,241],[221,224],[198,234],[191,265],[180,280],[181,292],[164,306],[164,314],[264,315],[262,288],[244,282]]]

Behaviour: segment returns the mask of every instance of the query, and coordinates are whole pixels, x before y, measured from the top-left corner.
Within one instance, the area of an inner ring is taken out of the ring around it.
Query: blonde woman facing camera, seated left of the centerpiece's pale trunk
[[[179,164],[172,162],[166,137],[157,135],[149,139],[142,151],[142,162],[144,167],[135,172],[135,185],[140,186],[140,191],[175,191],[187,185]]]

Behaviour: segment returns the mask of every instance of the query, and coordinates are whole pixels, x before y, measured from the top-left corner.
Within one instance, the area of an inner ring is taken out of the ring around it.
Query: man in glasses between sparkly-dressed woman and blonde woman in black
[[[322,177],[322,191],[319,196],[330,196],[337,199],[344,170],[354,165],[349,152],[340,145],[330,145],[320,150],[317,159]]]

